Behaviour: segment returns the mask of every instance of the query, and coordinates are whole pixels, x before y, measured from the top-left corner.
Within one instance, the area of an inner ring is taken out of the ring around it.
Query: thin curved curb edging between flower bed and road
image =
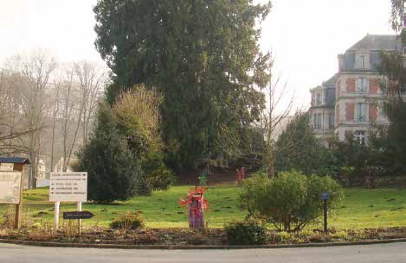
[[[387,240],[365,240],[356,242],[329,242],[329,243],[306,243],[306,244],[272,244],[272,245],[123,245],[123,244],[86,244],[86,243],[62,243],[40,242],[27,240],[0,239],[0,243],[45,246],[45,247],[70,247],[70,248],[115,248],[115,249],[165,249],[165,250],[191,250],[191,249],[256,249],[256,248],[314,248],[328,246],[354,246],[406,242],[406,238]]]

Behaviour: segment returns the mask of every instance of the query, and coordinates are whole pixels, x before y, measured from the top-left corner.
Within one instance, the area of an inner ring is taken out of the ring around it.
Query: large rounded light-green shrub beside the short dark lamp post
[[[299,231],[322,214],[322,191],[330,194],[329,208],[343,196],[339,184],[328,176],[296,171],[281,172],[273,179],[257,175],[243,183],[239,203],[249,216],[270,222],[278,230]]]

